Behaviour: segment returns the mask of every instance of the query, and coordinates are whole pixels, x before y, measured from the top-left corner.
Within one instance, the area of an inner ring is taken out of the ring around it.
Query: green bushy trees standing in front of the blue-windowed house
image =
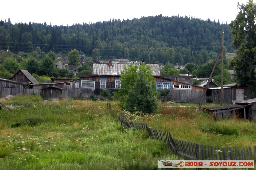
[[[138,72],[137,68],[137,65],[130,64],[121,72],[122,89],[118,89],[117,95],[121,99],[123,108],[130,112],[136,108],[143,113],[154,113],[159,103],[151,67],[143,63],[139,66]]]

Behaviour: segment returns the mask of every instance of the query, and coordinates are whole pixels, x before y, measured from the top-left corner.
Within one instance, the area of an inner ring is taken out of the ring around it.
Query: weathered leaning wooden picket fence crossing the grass
[[[239,149],[236,147],[200,145],[194,142],[174,139],[170,131],[152,129],[146,123],[127,122],[124,120],[124,114],[119,116],[119,121],[128,129],[147,130],[150,138],[163,141],[171,148],[175,155],[180,155],[185,159],[254,159],[255,161],[256,158],[256,146],[254,146],[254,153],[252,154],[251,147]]]

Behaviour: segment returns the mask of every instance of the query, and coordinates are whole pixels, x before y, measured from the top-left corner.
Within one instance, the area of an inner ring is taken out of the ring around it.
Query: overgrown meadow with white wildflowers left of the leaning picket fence
[[[0,100],[0,169],[157,169],[177,159],[148,133],[120,125],[106,101],[44,101],[38,96]]]

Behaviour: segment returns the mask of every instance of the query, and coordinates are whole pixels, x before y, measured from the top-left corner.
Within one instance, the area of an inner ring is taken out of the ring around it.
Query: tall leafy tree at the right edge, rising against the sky
[[[256,96],[256,5],[253,0],[247,4],[238,4],[240,12],[229,26],[232,28],[232,45],[237,49],[237,56],[231,61],[236,81],[239,85],[248,87],[249,96]]]

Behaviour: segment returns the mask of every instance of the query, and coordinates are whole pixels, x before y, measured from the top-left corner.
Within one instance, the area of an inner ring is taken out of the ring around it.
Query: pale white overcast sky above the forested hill
[[[108,19],[127,20],[142,16],[193,16],[220,23],[230,23],[239,10],[237,2],[247,4],[248,0],[8,0],[1,2],[0,20],[12,24],[23,22],[48,25],[72,25],[95,23]]]

